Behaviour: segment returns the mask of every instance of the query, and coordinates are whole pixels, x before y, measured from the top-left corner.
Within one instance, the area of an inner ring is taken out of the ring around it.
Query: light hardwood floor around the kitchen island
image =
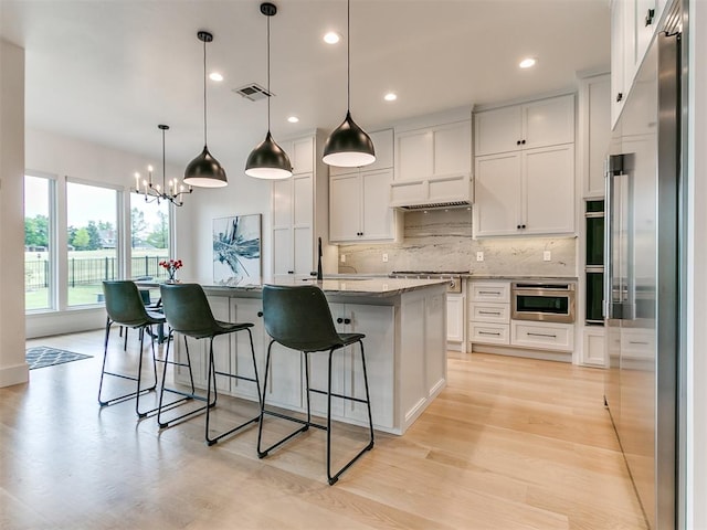
[[[255,426],[208,447],[203,416],[160,432],[133,402],[98,406],[102,332],[39,344],[95,357],[0,389],[3,529],[645,528],[601,370],[451,352],[447,388],[408,433],[377,433],[328,486],[323,432],[265,459]],[[220,399],[217,422],[242,404]]]

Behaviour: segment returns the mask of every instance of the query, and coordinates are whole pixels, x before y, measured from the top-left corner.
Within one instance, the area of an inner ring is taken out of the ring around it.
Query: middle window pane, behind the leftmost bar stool
[[[68,306],[102,301],[102,282],[120,274],[117,193],[107,188],[66,183]]]

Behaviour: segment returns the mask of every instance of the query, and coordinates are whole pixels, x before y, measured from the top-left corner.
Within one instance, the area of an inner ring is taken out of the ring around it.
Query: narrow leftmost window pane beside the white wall
[[[25,310],[51,308],[53,266],[50,257],[53,181],[24,177],[24,306]]]

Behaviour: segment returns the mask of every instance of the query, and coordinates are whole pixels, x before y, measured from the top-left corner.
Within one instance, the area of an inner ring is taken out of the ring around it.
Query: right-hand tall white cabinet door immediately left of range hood
[[[392,169],[366,171],[361,173],[361,239],[392,240],[395,237],[393,210],[389,205],[390,184],[392,181]],[[352,195],[349,197],[348,200],[351,204],[358,202]]]

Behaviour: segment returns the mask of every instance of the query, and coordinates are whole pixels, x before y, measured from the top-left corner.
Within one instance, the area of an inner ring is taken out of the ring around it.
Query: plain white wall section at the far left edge
[[[0,41],[0,386],[28,381],[24,361],[24,50]]]

